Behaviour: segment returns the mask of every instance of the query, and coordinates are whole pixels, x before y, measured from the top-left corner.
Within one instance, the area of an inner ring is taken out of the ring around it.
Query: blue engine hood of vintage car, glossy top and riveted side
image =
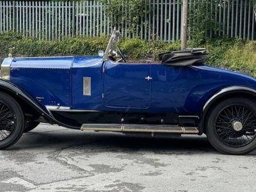
[[[25,90],[45,105],[70,106],[72,95],[72,68],[77,63],[90,66],[102,63],[99,56],[51,57],[51,58],[10,58],[5,59],[6,72],[10,82]],[[7,62],[8,61],[8,62]],[[7,79],[7,78],[6,78]]]

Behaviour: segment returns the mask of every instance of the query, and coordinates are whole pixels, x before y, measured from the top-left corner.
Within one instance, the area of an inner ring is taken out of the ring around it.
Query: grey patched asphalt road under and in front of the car
[[[0,191],[256,191],[256,151],[205,136],[147,138],[39,125],[0,151]]]

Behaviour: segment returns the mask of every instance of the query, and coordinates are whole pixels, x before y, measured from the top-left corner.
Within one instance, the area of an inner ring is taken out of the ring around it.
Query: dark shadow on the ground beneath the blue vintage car
[[[161,151],[164,153],[204,154],[219,152],[212,147],[205,135],[182,135],[175,137],[127,136],[116,132],[93,131],[45,131],[24,133],[20,141],[8,150],[32,150],[44,148],[96,148],[104,150]]]

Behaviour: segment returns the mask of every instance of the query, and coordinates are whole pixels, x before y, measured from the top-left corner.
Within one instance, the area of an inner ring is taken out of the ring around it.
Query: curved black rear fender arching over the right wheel
[[[256,90],[246,86],[229,86],[215,93],[210,99],[207,100],[207,102],[205,102],[202,114],[200,115],[199,135],[204,133],[204,127],[206,124],[205,119],[211,111],[212,106],[218,104],[218,102],[223,99],[231,97],[250,97],[256,100]]]

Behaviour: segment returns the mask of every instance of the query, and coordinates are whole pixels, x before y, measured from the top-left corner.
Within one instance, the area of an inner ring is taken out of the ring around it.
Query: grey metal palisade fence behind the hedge
[[[202,1],[189,0],[189,12]],[[205,35],[210,38],[227,35],[239,36],[244,40],[255,39],[254,0],[207,2],[209,8],[205,12],[211,12],[212,19],[220,28],[207,29]],[[129,9],[122,10],[122,18],[127,17]],[[111,24],[104,12],[104,4],[97,1],[0,1],[0,32],[17,31],[39,40],[61,40],[62,36],[108,35],[116,26],[123,36],[166,42],[180,39],[182,1],[145,0],[145,10],[145,15],[132,33],[125,19],[124,22]]]

